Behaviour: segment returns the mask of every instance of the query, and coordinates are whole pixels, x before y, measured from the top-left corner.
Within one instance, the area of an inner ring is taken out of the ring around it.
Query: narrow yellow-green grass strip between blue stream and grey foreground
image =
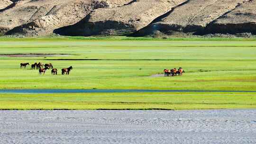
[[[0,109],[256,108],[256,93],[4,94]]]

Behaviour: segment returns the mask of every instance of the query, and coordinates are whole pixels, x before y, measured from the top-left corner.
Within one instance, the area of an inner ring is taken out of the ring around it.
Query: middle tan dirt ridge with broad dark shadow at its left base
[[[96,9],[88,19],[58,30],[64,35],[129,35],[186,0],[137,0],[112,9]],[[78,29],[75,33],[74,30]]]

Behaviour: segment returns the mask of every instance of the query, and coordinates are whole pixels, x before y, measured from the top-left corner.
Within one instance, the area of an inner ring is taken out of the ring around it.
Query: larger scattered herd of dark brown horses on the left
[[[29,63],[20,63],[20,68],[26,68],[26,66],[29,65]],[[31,65],[31,70],[39,70],[39,74],[42,75],[42,73],[45,75],[46,70],[52,69],[52,75],[57,75],[58,70],[53,68],[53,64],[52,63],[46,63],[43,64],[41,62],[39,63],[34,63]],[[61,74],[67,74],[69,75],[69,72],[73,69],[72,66],[68,67],[68,68],[63,68],[61,69]]]

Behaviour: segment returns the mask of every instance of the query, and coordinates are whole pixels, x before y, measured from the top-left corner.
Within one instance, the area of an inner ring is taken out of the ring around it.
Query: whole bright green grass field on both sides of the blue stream
[[[256,90],[256,40],[225,38],[0,38],[0,89]],[[19,63],[73,66],[39,76]],[[183,67],[179,77],[152,77]],[[0,94],[0,109],[256,108],[252,92]]]

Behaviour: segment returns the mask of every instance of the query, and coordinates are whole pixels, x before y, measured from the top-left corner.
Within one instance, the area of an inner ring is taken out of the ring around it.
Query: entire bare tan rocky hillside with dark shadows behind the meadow
[[[256,35],[256,0],[0,0],[0,34]]]

